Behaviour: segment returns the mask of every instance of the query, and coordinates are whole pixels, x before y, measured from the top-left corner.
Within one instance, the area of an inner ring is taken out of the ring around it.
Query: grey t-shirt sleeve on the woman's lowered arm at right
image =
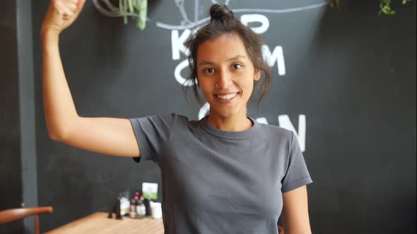
[[[289,192],[298,187],[312,183],[310,173],[305,165],[304,156],[298,144],[297,137],[291,132],[290,151],[286,174],[281,180],[281,192]]]

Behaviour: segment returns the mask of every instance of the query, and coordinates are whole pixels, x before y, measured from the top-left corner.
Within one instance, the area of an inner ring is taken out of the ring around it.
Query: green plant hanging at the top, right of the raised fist
[[[127,17],[131,16],[136,18],[136,27],[141,30],[145,29],[148,0],[119,0],[119,11],[125,25],[128,21]]]

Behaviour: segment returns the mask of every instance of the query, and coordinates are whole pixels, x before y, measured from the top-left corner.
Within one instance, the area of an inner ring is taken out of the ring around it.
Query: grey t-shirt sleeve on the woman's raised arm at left
[[[172,113],[165,116],[129,118],[141,152],[140,157],[133,158],[136,163],[139,163],[141,159],[158,163],[158,155],[168,140],[175,117],[176,114]]]

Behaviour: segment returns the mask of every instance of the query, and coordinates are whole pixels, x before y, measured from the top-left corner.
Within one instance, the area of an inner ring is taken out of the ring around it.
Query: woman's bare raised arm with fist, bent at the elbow
[[[52,0],[40,36],[45,118],[49,137],[113,156],[140,156],[128,119],[78,116],[59,55],[59,34],[76,20],[86,0]]]

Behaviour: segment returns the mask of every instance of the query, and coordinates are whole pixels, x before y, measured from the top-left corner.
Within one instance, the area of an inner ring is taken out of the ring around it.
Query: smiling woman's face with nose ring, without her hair
[[[246,104],[260,71],[254,70],[242,39],[221,35],[201,44],[197,53],[199,87],[210,104],[210,115],[246,117]]]

